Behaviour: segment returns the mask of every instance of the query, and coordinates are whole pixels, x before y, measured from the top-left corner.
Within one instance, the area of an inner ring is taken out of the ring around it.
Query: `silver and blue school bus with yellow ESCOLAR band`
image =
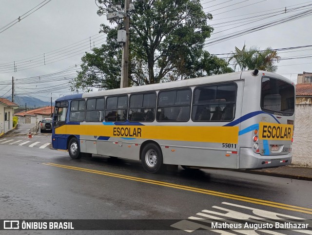
[[[56,100],[53,148],[140,160],[155,173],[291,164],[295,87],[266,71],[67,95]]]

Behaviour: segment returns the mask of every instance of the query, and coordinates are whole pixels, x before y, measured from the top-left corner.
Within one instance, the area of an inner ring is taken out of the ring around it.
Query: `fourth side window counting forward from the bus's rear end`
[[[111,96],[106,99],[105,121],[125,122],[127,119],[128,95]]]

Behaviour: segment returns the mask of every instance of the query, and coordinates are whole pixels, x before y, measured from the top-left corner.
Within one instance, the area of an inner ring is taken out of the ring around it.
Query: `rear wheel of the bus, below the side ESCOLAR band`
[[[148,143],[141,152],[141,162],[145,171],[156,173],[162,168],[162,153],[158,145]]]

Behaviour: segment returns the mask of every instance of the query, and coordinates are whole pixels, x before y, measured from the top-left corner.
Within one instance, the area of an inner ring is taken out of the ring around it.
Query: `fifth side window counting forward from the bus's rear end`
[[[104,98],[88,99],[86,110],[86,122],[103,122]]]

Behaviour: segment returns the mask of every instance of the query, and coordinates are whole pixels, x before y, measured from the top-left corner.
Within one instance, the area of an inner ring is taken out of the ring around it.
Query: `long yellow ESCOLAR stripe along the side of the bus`
[[[109,136],[192,142],[238,142],[238,127],[64,125],[56,134]]]

